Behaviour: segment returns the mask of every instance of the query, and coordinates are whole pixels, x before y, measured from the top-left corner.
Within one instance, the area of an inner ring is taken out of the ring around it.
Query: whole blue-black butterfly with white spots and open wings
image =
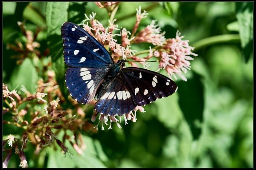
[[[122,116],[177,91],[175,82],[162,74],[124,68],[126,59],[114,63],[104,46],[74,23],[63,23],[61,36],[67,89],[80,104],[96,99],[97,113]]]

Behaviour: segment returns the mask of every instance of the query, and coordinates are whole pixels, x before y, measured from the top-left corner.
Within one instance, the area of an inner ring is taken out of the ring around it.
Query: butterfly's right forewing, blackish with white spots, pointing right
[[[134,103],[138,106],[170,96],[177,90],[177,85],[172,79],[154,71],[130,67],[122,68],[121,74]]]

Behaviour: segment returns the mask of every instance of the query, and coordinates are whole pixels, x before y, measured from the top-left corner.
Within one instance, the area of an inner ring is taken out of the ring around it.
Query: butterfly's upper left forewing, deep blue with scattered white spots
[[[61,26],[64,62],[70,67],[107,68],[114,64],[108,51],[94,37],[74,23]]]

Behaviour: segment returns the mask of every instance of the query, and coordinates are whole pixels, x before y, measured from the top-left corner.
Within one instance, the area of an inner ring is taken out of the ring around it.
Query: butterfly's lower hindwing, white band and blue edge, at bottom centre
[[[111,81],[110,88],[100,97],[94,108],[103,115],[121,116],[134,110],[136,106],[121,77],[117,76]]]

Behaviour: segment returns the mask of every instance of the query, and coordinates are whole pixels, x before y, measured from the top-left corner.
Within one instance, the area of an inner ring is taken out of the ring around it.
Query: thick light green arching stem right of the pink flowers
[[[236,42],[240,41],[239,34],[224,34],[224,35],[216,35],[212,37],[207,37],[197,42],[192,43],[192,47],[195,47],[195,51],[203,48],[205,46],[209,46],[219,42]]]

